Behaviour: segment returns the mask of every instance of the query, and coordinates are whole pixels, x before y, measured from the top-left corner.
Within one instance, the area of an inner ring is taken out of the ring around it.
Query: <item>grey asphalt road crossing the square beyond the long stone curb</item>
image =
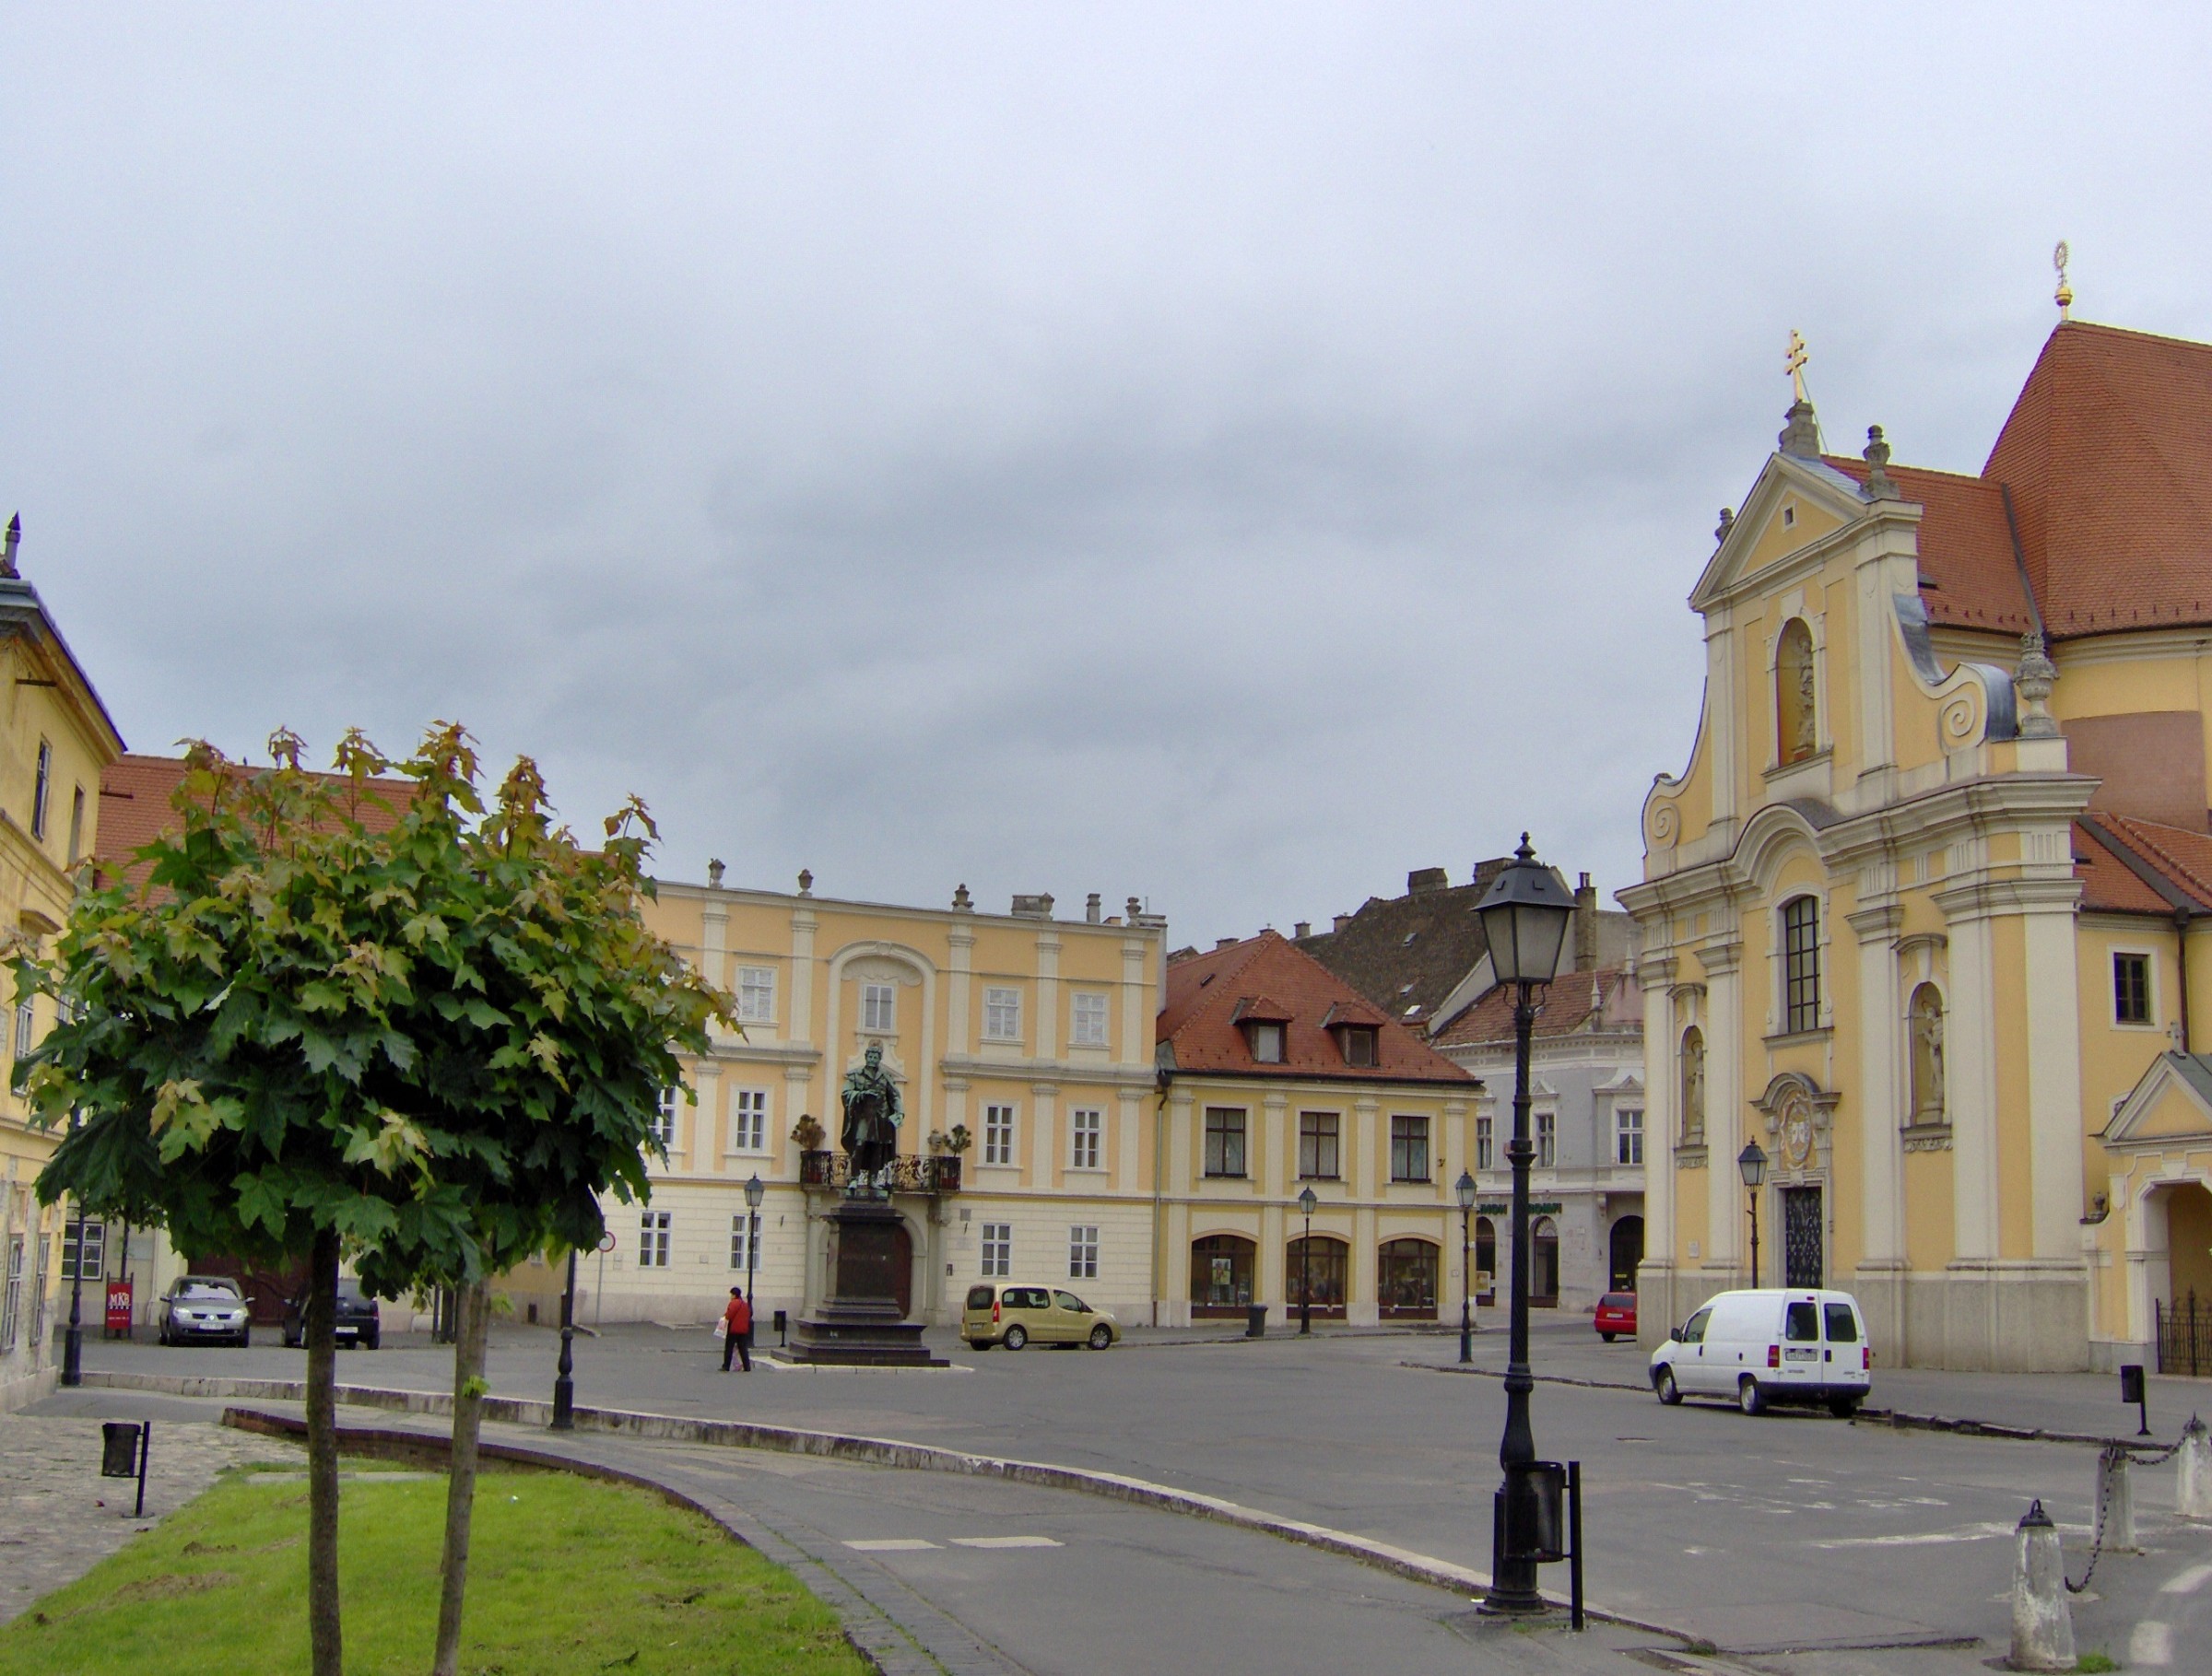
[[[1104,1355],[940,1349],[960,1366],[721,1375],[706,1333],[619,1329],[580,1342],[577,1400],[1135,1473],[1462,1565],[1489,1563],[1502,1386],[1405,1366],[1449,1362],[1451,1340],[1270,1338]],[[1537,1362],[1551,1351],[1564,1369],[1595,1349],[1555,1331],[1540,1338]],[[1630,1375],[1641,1369],[1641,1353],[1615,1349]],[[502,1331],[493,1389],[544,1395],[551,1353],[551,1333]],[[259,1347],[86,1347],[88,1366],[177,1373],[296,1378],[301,1360]],[[451,1362],[445,1351],[394,1347],[347,1353],[338,1373],[345,1382],[445,1389]],[[1540,1386],[1535,1435],[1540,1453],[1584,1462],[1590,1599],[1728,1649],[1973,1638],[1986,1656],[1991,1643],[2004,1645],[2011,1532],[2031,1497],[2070,1528],[2070,1570],[2079,1577],[2086,1563],[2095,1453],[2081,1446],[1905,1433],[1825,1415],[1747,1420],[1734,1408],[1661,1408],[1639,1391],[1575,1384]],[[2185,1669],[2185,1649],[2212,1645],[2212,1588],[2203,1581],[2212,1570],[2190,1588],[2161,1585],[2212,1565],[2212,1534],[2170,1519],[2172,1468],[2139,1473],[2137,1504],[2154,1552],[2101,1561],[2101,1599],[2077,1607],[2081,1641],[2126,1656],[2137,1625],[2159,1623],[2183,1649],[2174,1667]],[[989,1550],[945,1541],[889,1552],[916,1559],[887,1563],[958,1572],[982,1565],[978,1554]],[[958,1574],[929,1585],[967,1588]],[[1119,1607],[1141,1599],[1141,1590],[1121,1596]]]

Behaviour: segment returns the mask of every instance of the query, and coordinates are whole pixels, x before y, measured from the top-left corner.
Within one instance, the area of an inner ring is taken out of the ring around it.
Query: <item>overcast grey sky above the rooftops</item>
[[[2095,27],[2086,27],[2095,20]],[[2212,338],[2199,7],[0,9],[0,517],[135,750],[458,716],[659,871],[1606,891],[1787,405]]]

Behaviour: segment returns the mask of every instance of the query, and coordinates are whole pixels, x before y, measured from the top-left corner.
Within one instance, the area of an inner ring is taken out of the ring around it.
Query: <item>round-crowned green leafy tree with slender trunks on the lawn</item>
[[[493,807],[438,725],[387,763],[358,732],[336,776],[270,741],[248,774],[192,745],[175,829],[142,878],[88,891],[18,982],[60,1022],[18,1083],[71,1123],[49,1203],[161,1223],[186,1251],[310,1258],[310,1638],[341,1669],[332,1298],[341,1254],[383,1296],[462,1289],[438,1669],[458,1661],[482,1397],[484,1282],[595,1243],[599,1192],[646,1192],[659,1088],[723,997],[655,940],[653,836],[630,800],[606,845],[551,825],[524,758]],[[376,776],[409,783],[400,807]],[[20,991],[27,993],[27,991]]]

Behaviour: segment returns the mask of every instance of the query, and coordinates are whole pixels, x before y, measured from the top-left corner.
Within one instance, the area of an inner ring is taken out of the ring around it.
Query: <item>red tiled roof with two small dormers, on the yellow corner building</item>
[[[1279,1066],[1256,1061],[1245,1033],[1234,1024],[1239,1013],[1250,1017],[1250,1004],[1265,997],[1274,997],[1290,1013]],[[1161,1061],[1172,1070],[1475,1083],[1444,1055],[1387,1017],[1376,1028],[1376,1064],[1347,1066],[1323,1019],[1336,1010],[1343,1022],[1356,1006],[1365,1002],[1327,966],[1281,933],[1261,931],[1245,942],[1168,962],[1168,997],[1155,1028]]]

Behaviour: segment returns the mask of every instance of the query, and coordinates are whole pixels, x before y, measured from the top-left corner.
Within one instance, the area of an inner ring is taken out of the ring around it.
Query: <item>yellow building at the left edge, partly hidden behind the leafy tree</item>
[[[38,590],[15,573],[15,535],[11,524],[0,548],[0,911],[20,940],[44,946],[69,920],[75,867],[97,840],[100,772],[122,756],[124,741]],[[0,1408],[51,1386],[53,1327],[66,1313],[66,1207],[40,1207],[33,1194],[53,1136],[27,1123],[13,1092],[15,1059],[53,1022],[49,1008],[18,1002],[9,1010],[11,1075],[0,1090]],[[97,1274],[91,1258],[86,1274]],[[82,1307],[97,1333],[95,1280]]]

